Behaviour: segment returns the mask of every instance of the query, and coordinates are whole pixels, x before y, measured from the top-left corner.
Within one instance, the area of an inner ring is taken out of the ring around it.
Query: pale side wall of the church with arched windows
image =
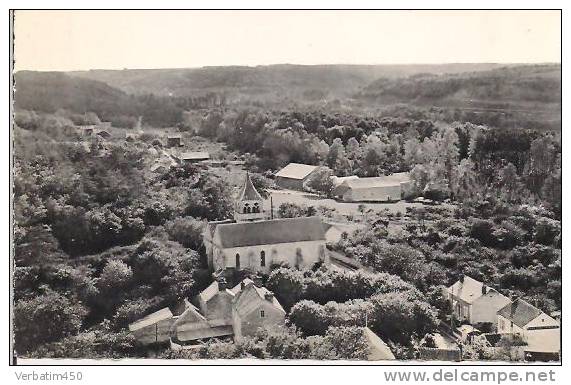
[[[214,269],[236,267],[236,254],[240,254],[240,268],[250,268],[254,271],[269,272],[272,263],[288,263],[291,267],[297,265],[297,249],[301,249],[302,260],[300,267],[311,267],[320,258],[329,263],[325,250],[325,241],[307,241],[279,243],[275,245],[255,245],[234,247],[220,251],[223,258],[216,258],[214,252]],[[266,266],[260,266],[261,251],[266,253]]]

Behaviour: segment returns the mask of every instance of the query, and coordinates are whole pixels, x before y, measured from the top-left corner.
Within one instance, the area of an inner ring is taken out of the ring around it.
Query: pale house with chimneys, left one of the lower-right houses
[[[452,305],[454,317],[472,325],[495,326],[498,310],[510,303],[508,297],[468,276],[460,277],[446,288],[445,296]]]

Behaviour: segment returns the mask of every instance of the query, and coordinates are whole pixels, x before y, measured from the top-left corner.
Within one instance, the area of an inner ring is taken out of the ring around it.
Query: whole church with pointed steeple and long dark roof
[[[311,267],[329,263],[318,217],[268,220],[249,175],[234,205],[234,220],[209,222],[203,233],[209,267],[269,272],[272,264]]]

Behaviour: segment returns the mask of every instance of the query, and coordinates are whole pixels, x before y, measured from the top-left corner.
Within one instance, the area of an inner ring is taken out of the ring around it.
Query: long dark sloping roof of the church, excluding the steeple
[[[219,224],[215,232],[223,248],[325,240],[318,217]]]

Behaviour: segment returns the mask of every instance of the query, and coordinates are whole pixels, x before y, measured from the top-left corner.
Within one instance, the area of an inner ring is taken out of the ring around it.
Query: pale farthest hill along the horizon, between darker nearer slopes
[[[91,70],[69,75],[98,80],[131,94],[189,96],[204,92],[320,98],[344,97],[380,77],[484,71],[498,64],[290,65],[191,69]]]

